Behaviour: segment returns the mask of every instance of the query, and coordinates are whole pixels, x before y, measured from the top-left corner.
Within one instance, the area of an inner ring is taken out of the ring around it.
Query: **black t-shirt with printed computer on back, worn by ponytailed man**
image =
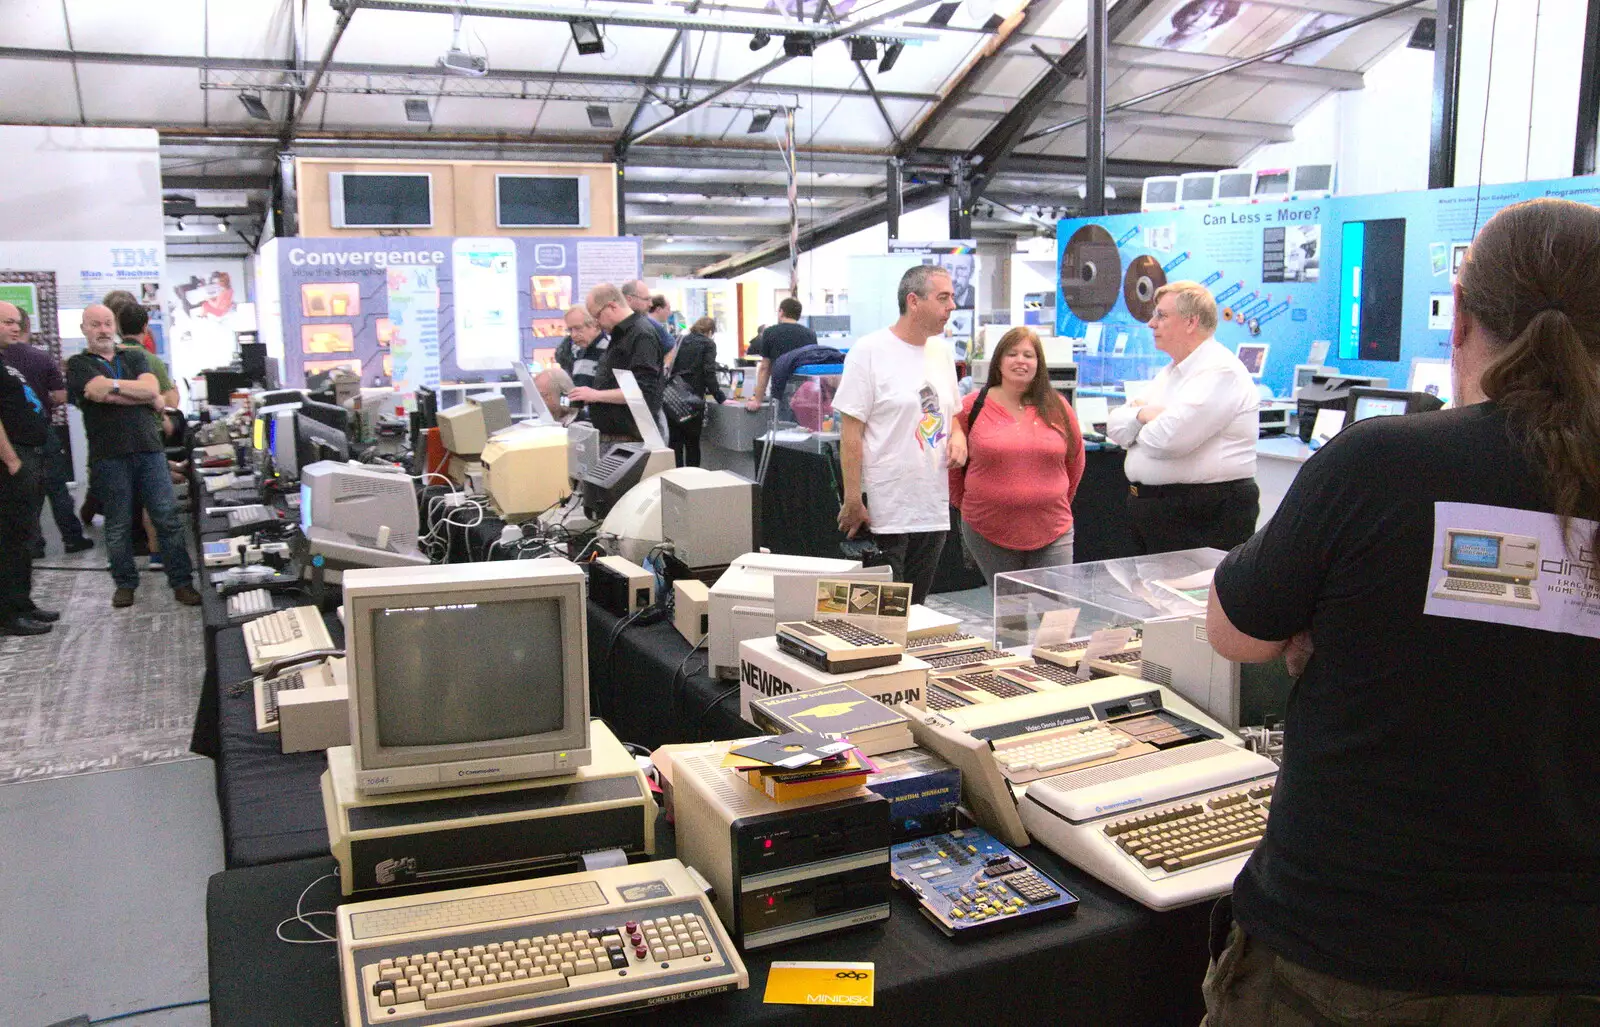
[[[1466,619],[1493,605],[1424,613],[1435,534],[1483,526],[1435,525],[1438,502],[1550,510],[1496,406],[1374,418],[1307,461],[1216,571],[1242,632],[1315,645],[1234,913],[1288,960],[1373,987],[1592,993],[1600,640]],[[1552,589],[1563,553],[1539,555],[1544,606],[1576,601]]]

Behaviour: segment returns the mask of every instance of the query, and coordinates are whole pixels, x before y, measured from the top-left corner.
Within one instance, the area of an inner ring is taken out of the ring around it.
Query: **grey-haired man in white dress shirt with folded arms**
[[[1155,293],[1155,347],[1173,358],[1142,400],[1110,413],[1128,451],[1128,526],[1139,552],[1234,549],[1256,531],[1261,400],[1250,371],[1213,338],[1216,301],[1198,282]]]

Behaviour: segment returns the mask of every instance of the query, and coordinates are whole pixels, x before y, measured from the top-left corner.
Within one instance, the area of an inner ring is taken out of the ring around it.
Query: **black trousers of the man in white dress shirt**
[[[1254,478],[1128,486],[1128,528],[1139,553],[1200,547],[1226,552],[1256,533],[1259,515]]]

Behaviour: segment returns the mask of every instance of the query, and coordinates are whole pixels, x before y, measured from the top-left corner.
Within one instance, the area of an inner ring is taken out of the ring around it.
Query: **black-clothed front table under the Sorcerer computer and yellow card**
[[[1037,846],[1026,854],[1078,896],[1077,915],[955,944],[898,893],[886,923],[747,953],[747,990],[606,1022],[1192,1027],[1200,1021],[1208,902],[1154,913],[1077,870],[1062,869]],[[274,936],[277,923],[294,915],[306,886],[333,867],[331,857],[322,857],[211,877],[206,950],[216,1027],[344,1022],[334,947],[291,945]],[[330,878],[306,894],[302,909],[331,910],[338,902],[339,889]],[[330,917],[315,917],[314,923],[331,929]],[[298,923],[286,925],[285,933],[310,936]],[[877,968],[874,1008],[763,1005],[773,960],[870,961]]]

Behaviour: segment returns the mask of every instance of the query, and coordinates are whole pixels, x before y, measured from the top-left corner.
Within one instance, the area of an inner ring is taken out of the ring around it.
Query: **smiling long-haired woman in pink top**
[[[973,405],[984,397],[978,424]],[[950,470],[962,541],[989,584],[1002,571],[1072,563],[1072,498],[1083,478],[1083,432],[1050,387],[1043,347],[1027,328],[1005,333],[989,384],[966,397],[965,467]]]

